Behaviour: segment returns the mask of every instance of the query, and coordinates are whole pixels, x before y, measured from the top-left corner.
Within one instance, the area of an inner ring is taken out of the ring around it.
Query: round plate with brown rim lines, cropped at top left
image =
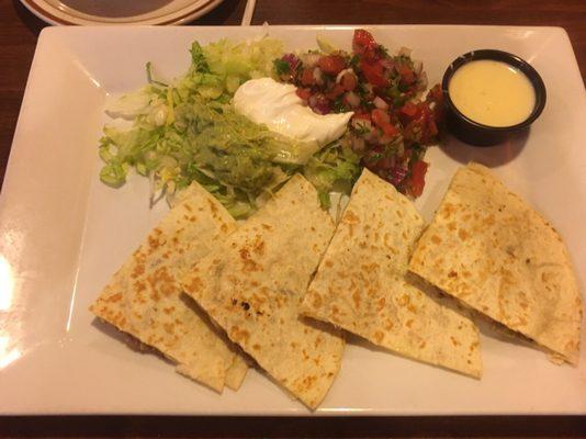
[[[182,24],[223,0],[21,0],[50,24]]]

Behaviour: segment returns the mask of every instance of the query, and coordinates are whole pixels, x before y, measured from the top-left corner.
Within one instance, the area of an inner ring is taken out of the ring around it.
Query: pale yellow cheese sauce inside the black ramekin
[[[521,123],[536,105],[529,78],[519,69],[492,59],[464,64],[453,74],[448,92],[462,114],[488,126]]]

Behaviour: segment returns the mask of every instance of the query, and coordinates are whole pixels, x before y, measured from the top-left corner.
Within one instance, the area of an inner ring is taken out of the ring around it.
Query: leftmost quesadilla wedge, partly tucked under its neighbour
[[[228,212],[193,183],[114,274],[90,309],[156,348],[177,371],[211,389],[237,390],[247,365],[205,313],[181,292],[179,278],[236,229]]]

